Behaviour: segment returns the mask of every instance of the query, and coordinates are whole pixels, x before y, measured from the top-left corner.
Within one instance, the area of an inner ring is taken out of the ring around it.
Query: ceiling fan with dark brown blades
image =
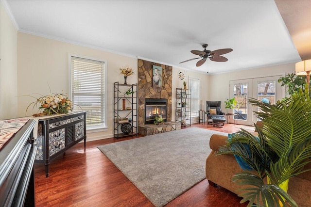
[[[202,60],[199,60],[197,63],[196,63],[196,66],[199,67],[201,66],[202,64],[204,64],[207,60],[207,58],[209,58],[209,60],[211,61],[215,61],[215,62],[226,62],[228,61],[227,58],[225,58],[224,56],[221,56],[223,54],[226,54],[226,53],[229,53],[231,52],[233,49],[231,48],[225,48],[225,49],[216,49],[214,51],[210,51],[207,48],[207,44],[204,44],[202,45],[202,47],[204,48],[203,51],[200,51],[200,50],[191,50],[191,53],[195,54],[195,55],[199,55],[200,57],[198,58],[192,58],[190,60],[187,60],[187,61],[183,61],[183,62],[180,62],[181,63],[185,63],[185,62],[188,62],[188,61],[192,61],[192,60],[195,60],[195,59],[199,59],[199,58],[203,58]]]

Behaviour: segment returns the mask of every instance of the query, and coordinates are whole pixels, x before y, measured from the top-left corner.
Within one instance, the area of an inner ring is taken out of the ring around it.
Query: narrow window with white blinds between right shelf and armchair
[[[197,116],[200,109],[200,79],[189,77],[189,88],[191,89],[191,116]]]

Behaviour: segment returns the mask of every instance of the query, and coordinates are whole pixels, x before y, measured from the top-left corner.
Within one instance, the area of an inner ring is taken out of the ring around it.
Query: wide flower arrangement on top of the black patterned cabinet
[[[43,112],[35,113],[34,116],[62,114],[72,111],[72,102],[68,99],[67,94],[50,94],[48,96],[34,98],[36,101],[28,105],[26,112],[32,104],[34,104],[34,107],[40,104],[39,109],[43,109]]]

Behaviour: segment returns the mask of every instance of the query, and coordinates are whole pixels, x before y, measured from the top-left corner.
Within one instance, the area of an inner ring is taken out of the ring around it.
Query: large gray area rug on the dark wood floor
[[[163,207],[205,178],[212,134],[191,127],[98,146],[156,207]]]

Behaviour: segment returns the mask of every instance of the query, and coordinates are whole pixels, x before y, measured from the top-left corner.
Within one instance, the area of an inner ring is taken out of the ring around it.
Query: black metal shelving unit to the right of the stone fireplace
[[[176,122],[191,126],[191,89],[176,88]]]

